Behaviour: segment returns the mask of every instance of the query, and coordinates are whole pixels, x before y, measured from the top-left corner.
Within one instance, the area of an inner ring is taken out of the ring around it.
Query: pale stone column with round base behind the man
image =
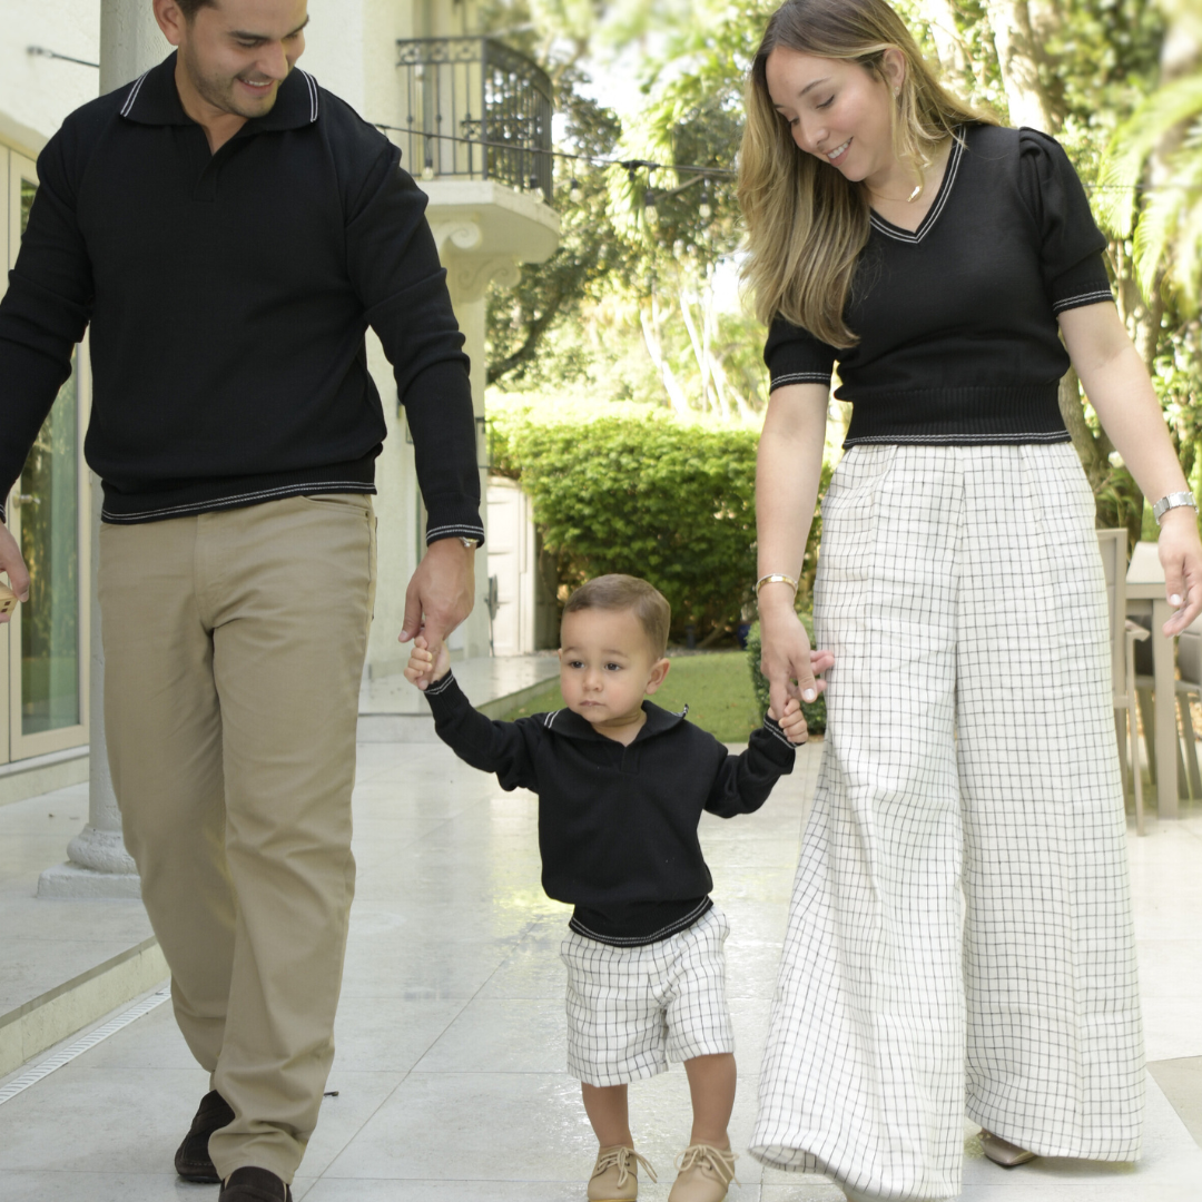
[[[162,61],[171,47],[154,19],[150,0],[102,0],[100,10],[100,94],[120,88]],[[91,724],[88,825],[67,845],[71,857],[37,882],[38,897],[137,898],[142,887],[121,838],[121,814],[108,773],[105,746],[105,651],[100,638],[96,567],[100,563],[100,481],[91,489],[91,621],[88,650]]]

